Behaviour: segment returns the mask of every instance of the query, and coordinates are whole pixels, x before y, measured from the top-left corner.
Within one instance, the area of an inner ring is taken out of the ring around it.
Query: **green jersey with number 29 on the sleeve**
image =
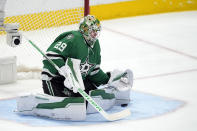
[[[47,49],[46,55],[59,67],[64,66],[66,59],[80,59],[80,71],[83,80],[89,79],[97,86],[106,84],[109,77],[100,69],[100,45],[97,40],[91,48],[79,31],[65,32],[59,35]],[[60,76],[58,71],[46,60],[43,60],[42,79],[50,80]]]

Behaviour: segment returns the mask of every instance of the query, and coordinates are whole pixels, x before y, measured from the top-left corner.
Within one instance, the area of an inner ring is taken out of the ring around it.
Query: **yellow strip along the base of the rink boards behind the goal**
[[[111,4],[97,4],[90,7],[90,14],[97,16],[100,20],[106,20],[121,17],[186,10],[197,10],[197,1],[131,0]],[[4,22],[19,23],[19,30],[30,31],[75,24],[80,21],[81,17],[83,17],[83,8],[73,8],[9,16],[5,18]],[[0,32],[0,35],[4,33]]]

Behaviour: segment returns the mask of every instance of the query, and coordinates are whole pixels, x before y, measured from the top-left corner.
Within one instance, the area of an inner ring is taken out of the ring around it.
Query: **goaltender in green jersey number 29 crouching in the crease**
[[[79,30],[60,34],[46,51],[47,58],[60,70],[48,59],[43,59],[44,93],[19,97],[18,113],[60,120],[85,120],[87,113],[97,111],[81,96],[78,88],[104,110],[114,105],[126,106],[130,102],[133,73],[129,69],[102,71],[100,31],[100,21],[87,15],[81,20]],[[79,81],[73,82],[73,78]]]

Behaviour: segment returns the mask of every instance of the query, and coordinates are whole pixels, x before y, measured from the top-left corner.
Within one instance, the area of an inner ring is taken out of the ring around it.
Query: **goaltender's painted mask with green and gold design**
[[[100,21],[92,15],[85,16],[79,25],[86,42],[93,47],[101,31]]]

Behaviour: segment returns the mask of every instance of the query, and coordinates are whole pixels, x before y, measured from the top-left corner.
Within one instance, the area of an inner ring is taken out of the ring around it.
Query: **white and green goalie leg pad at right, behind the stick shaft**
[[[115,95],[113,93],[107,93],[105,90],[97,89],[90,91],[92,99],[101,106],[104,110],[111,109],[115,104]],[[87,113],[97,113],[96,109],[88,103]]]

